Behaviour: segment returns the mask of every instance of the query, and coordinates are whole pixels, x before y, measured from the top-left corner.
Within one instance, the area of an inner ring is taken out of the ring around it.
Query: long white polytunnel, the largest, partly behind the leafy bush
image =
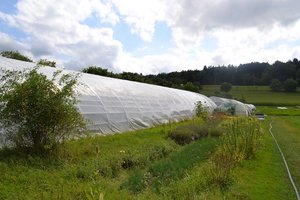
[[[0,56],[0,67],[9,70],[33,68],[35,63]],[[51,77],[57,69],[41,67]],[[63,70],[63,73],[78,73]],[[209,112],[216,104],[208,97],[179,89],[80,73],[77,107],[88,129],[99,134],[120,133],[192,118],[200,101]]]

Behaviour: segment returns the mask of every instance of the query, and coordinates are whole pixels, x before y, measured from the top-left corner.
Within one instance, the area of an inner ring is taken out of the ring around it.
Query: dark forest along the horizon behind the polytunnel
[[[293,79],[300,85],[300,61],[276,61],[273,64],[252,62],[239,66],[204,66],[203,70],[187,70],[181,72],[143,75],[132,72],[113,73],[107,69],[89,66],[82,70],[85,73],[97,74],[113,78],[156,84],[161,86],[199,90],[202,85],[220,85],[224,82],[233,85],[270,85],[272,80],[284,82]]]

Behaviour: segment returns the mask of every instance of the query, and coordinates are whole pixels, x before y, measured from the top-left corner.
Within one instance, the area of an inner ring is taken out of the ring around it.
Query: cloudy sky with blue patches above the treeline
[[[156,74],[300,59],[299,0],[0,0],[0,51]]]

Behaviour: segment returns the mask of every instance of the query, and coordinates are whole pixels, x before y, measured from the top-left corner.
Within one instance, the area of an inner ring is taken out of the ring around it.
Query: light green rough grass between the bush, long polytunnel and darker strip
[[[118,187],[131,168],[143,168],[180,148],[166,139],[171,126],[71,141],[63,158],[53,161],[1,152],[0,199],[84,199],[90,191],[103,192],[105,199],[131,199]]]

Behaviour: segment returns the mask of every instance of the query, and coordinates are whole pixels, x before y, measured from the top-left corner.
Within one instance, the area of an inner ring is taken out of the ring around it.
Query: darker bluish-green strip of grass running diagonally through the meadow
[[[147,186],[159,192],[162,185],[182,178],[188,170],[206,161],[216,143],[216,138],[205,138],[186,145],[180,151],[171,153],[166,160],[150,165],[144,173],[136,171],[124,186],[134,192],[140,192]]]

